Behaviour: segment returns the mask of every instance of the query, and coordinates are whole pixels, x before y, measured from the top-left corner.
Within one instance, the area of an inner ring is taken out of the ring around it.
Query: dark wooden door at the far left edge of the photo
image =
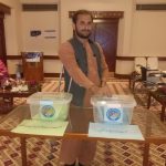
[[[3,18],[4,18],[4,14],[0,13],[0,59],[7,64]]]

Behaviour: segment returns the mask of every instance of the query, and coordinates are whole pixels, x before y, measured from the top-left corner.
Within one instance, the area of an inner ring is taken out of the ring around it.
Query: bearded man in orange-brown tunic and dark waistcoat
[[[60,46],[59,55],[64,65],[65,91],[73,94],[72,104],[90,106],[92,95],[111,95],[106,85],[108,75],[103,51],[90,40],[93,17],[90,11],[79,10],[73,15],[74,37]],[[72,79],[71,85],[70,80]],[[65,166],[91,165],[96,148],[95,142],[65,139],[62,143],[61,160]]]

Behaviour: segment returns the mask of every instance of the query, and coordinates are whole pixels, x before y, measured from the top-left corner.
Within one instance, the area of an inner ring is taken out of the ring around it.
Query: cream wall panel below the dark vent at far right
[[[135,11],[131,53],[133,55],[166,55],[166,12]]]

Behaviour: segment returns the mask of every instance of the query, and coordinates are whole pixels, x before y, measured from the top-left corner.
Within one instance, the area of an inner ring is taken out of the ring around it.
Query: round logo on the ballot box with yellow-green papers
[[[52,105],[43,105],[41,113],[44,117],[52,117],[55,114],[55,110]]]

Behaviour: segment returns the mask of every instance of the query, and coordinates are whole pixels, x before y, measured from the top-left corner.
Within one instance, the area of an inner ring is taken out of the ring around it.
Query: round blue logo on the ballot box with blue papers
[[[118,108],[108,108],[106,117],[111,121],[118,121],[121,118],[121,111]]]

